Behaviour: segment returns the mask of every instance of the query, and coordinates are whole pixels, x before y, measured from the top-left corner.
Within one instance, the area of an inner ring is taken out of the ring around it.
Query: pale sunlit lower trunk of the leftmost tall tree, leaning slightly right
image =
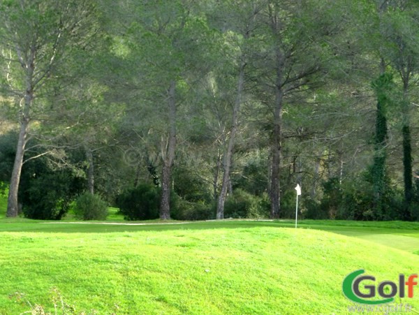
[[[10,179],[6,217],[17,217],[17,214],[19,213],[17,195],[19,193],[20,174],[22,173],[24,147],[27,143],[28,126],[29,119],[23,118],[20,123],[20,133],[19,139],[17,140],[15,163],[13,164],[12,177]]]

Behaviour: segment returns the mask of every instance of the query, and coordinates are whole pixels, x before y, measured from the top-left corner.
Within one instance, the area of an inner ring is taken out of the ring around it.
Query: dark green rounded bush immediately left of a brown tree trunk
[[[139,184],[117,197],[126,220],[149,220],[159,218],[160,189],[149,184]]]

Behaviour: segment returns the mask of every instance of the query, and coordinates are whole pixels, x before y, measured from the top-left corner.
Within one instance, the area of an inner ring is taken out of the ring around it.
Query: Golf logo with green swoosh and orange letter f
[[[342,291],[349,300],[367,305],[381,305],[391,303],[395,301],[395,296],[399,298],[407,297],[413,298],[413,288],[418,285],[415,281],[418,278],[418,274],[411,274],[409,277],[404,274],[399,274],[399,281],[396,284],[393,281],[381,281],[378,285],[372,284],[372,281],[376,281],[376,278],[370,275],[362,275],[365,270],[360,269],[351,272],[346,276],[342,284]],[[377,295],[380,300],[377,299]]]

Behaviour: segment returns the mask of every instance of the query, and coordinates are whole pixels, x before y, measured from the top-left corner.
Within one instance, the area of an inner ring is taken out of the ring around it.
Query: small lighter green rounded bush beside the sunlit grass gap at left
[[[89,192],[82,193],[75,200],[75,218],[78,220],[105,220],[108,217],[108,205],[101,196]]]

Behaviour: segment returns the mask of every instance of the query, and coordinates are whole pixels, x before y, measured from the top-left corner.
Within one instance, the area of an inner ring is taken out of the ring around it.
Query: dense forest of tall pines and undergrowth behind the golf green
[[[418,78],[416,0],[2,0],[7,216],[418,221]]]

